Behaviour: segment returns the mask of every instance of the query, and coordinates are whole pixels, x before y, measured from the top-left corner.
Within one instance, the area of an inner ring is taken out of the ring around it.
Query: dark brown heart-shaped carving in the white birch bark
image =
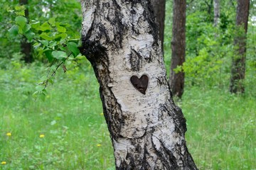
[[[137,76],[131,77],[131,83],[142,94],[146,94],[146,89],[149,84],[149,77],[146,75],[142,75],[141,78],[138,78]]]

